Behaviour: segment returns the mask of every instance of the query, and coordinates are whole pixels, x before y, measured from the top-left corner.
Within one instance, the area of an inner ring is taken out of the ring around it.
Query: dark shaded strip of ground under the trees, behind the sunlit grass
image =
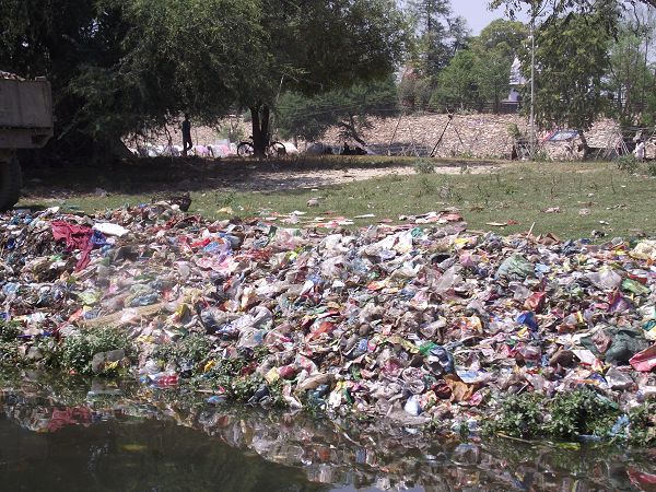
[[[115,161],[105,167],[85,163],[26,166],[27,196],[66,199],[75,195],[154,195],[167,191],[282,191],[312,189],[336,183],[336,171],[353,172],[412,167],[415,159],[385,156],[289,156],[272,160],[149,157]],[[440,162],[440,166],[459,166]],[[481,162],[479,165],[488,165]],[[321,172],[332,172],[330,176]]]

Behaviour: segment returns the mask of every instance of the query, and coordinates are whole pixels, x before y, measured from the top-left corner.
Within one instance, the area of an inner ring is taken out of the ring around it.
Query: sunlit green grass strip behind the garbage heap
[[[422,161],[427,162],[427,161]],[[431,161],[432,162],[432,161]],[[394,161],[390,161],[394,163]],[[216,191],[210,186],[191,192],[191,213],[209,219],[230,215],[257,216],[307,212],[353,218],[367,225],[379,220],[398,221],[399,215],[456,207],[470,230],[503,234],[528,231],[553,233],[563,238],[589,237],[593,230],[608,236],[656,234],[656,178],[646,166],[637,174],[619,171],[612,163],[520,163],[484,174],[390,174],[382,178],[312,189],[262,191]],[[93,212],[139,202],[150,202],[149,192],[112,192],[107,197],[71,195],[66,200],[31,197],[20,206],[61,204],[75,211]],[[317,198],[318,207],[307,201]],[[547,213],[559,208],[559,213]],[[489,223],[507,223],[504,227]],[[516,222],[516,223],[515,223]]]

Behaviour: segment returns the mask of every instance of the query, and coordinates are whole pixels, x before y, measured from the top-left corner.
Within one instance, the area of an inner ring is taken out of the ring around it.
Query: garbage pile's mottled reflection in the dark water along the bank
[[[332,485],[383,490],[651,490],[656,473],[648,452],[585,445],[565,449],[507,440],[436,442],[421,432],[384,422],[340,427],[303,412],[207,405],[203,395],[152,394],[134,384],[122,388],[122,395],[116,395],[115,387],[103,395],[97,383],[95,387],[95,394],[83,386],[71,391],[47,379],[33,379],[4,389],[0,412],[35,432],[61,432],[65,426],[89,429],[108,421],[125,423],[131,429],[131,441],[121,449],[128,454],[143,453],[148,447],[139,440],[136,421],[181,425],[266,460],[298,467],[308,480]]]

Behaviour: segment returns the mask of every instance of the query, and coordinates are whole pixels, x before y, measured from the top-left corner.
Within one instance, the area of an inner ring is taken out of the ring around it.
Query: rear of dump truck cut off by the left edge
[[[0,212],[21,197],[19,149],[40,149],[52,137],[52,94],[45,78],[0,72]]]

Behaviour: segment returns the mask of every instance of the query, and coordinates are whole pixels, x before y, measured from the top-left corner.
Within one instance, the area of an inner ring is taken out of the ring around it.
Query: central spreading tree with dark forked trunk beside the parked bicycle
[[[406,50],[394,0],[269,0],[261,20],[262,62],[238,102],[250,110],[255,152],[269,141],[281,90],[307,96],[391,74]]]

